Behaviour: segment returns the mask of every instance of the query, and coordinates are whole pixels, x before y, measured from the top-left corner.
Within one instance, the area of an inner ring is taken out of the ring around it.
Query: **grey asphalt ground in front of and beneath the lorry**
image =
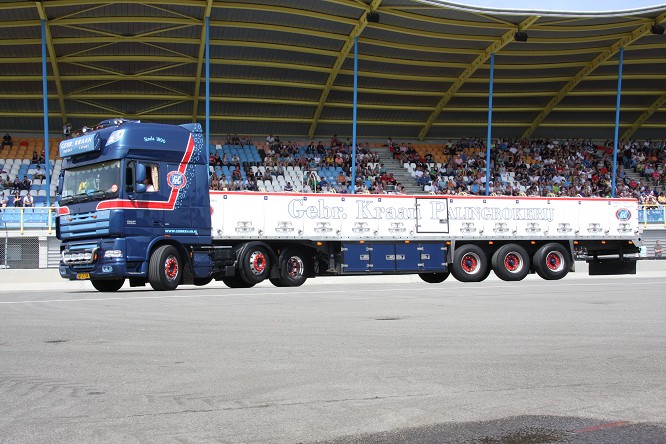
[[[114,294],[11,276],[3,443],[666,442],[666,261]]]

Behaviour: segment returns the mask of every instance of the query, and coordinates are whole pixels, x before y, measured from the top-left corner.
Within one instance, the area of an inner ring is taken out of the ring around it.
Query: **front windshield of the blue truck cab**
[[[65,171],[60,203],[63,205],[118,197],[120,160]]]

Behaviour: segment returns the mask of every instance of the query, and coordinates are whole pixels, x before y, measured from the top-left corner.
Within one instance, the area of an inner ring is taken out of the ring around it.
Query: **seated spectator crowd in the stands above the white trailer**
[[[246,146],[246,137],[228,136],[226,145]],[[486,147],[482,139],[462,138],[445,145],[412,147],[388,138],[385,144],[415,184],[431,194],[486,194]],[[435,152],[435,148],[438,147]],[[490,154],[491,195],[548,197],[611,196],[613,142],[554,139],[499,139]],[[234,167],[232,177],[214,170],[215,190],[261,191],[266,180],[299,171],[302,183],[289,181],[282,191],[348,193],[352,183],[351,141],[333,136],[328,144],[281,141],[270,134],[259,144],[260,162],[248,165],[238,156],[213,152],[210,165]],[[628,141],[618,149],[616,196],[636,198],[647,205],[666,204],[661,191],[666,180],[666,142]],[[367,143],[356,150],[355,193],[404,193],[403,184],[388,173],[377,151]],[[319,173],[335,171],[335,177]],[[289,177],[287,175],[287,177]]]

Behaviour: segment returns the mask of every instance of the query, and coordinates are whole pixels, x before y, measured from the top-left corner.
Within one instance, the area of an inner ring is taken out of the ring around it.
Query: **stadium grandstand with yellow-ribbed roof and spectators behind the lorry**
[[[645,205],[646,239],[666,237],[664,5],[44,0],[0,17],[5,266],[57,265],[58,144],[110,117],[205,122],[214,189],[615,191]]]

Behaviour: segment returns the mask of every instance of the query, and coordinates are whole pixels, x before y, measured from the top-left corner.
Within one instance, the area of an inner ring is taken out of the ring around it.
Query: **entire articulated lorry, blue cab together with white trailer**
[[[99,291],[370,274],[480,282],[491,271],[554,280],[574,271],[577,249],[590,274],[636,272],[632,199],[211,191],[199,124],[105,121],[59,149],[60,275]]]

